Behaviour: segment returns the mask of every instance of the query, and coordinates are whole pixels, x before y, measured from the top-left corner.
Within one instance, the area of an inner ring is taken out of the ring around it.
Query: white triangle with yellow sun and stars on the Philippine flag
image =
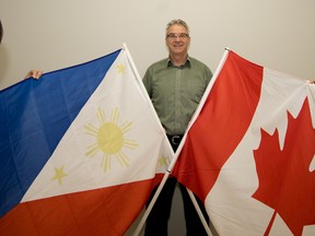
[[[23,202],[151,179],[173,156],[121,50]]]

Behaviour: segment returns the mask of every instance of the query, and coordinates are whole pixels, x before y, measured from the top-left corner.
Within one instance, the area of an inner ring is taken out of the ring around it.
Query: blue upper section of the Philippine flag
[[[119,52],[0,91],[0,217],[21,201]]]

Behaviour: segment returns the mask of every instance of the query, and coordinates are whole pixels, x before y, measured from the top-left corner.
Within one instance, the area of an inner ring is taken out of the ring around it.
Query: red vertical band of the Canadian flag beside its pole
[[[173,175],[202,201],[234,152],[255,114],[262,67],[233,51],[191,126]]]

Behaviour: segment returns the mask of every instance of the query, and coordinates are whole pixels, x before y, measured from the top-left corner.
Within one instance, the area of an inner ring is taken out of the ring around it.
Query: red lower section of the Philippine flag
[[[153,179],[20,203],[0,221],[3,236],[122,235],[143,209]]]

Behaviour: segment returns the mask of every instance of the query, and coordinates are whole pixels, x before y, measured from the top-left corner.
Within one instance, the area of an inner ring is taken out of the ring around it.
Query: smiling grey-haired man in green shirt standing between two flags
[[[144,74],[143,83],[175,152],[212,73],[206,64],[188,56],[189,27],[183,20],[173,20],[167,24],[165,43],[168,58],[151,64]],[[167,235],[167,221],[176,182],[176,179],[171,177],[163,187],[147,220],[145,235]],[[187,235],[207,235],[187,189],[180,184],[179,187]],[[203,204],[199,199],[197,201],[209,221]]]

